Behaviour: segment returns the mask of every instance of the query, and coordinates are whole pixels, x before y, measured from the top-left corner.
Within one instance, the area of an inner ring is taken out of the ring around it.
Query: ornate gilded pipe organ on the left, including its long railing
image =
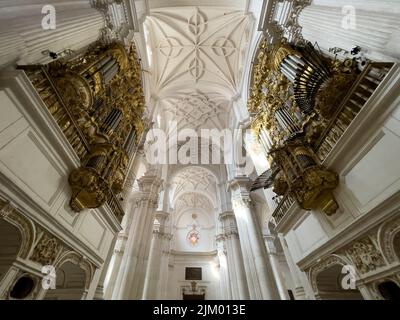
[[[135,48],[98,44],[68,60],[23,68],[81,159],[68,179],[71,208],[96,208],[115,199],[144,131]]]

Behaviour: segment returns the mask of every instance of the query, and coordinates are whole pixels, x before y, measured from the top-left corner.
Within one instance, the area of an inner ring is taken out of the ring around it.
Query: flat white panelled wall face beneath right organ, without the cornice
[[[327,217],[317,211],[297,214],[298,221],[285,235],[295,262],[400,190],[400,107],[364,149],[341,177],[335,191],[339,202],[335,215]]]

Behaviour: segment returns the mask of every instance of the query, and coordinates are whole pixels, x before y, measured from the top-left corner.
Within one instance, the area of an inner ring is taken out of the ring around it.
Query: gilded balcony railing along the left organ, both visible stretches
[[[21,69],[23,69],[29,77],[31,83],[47,106],[48,111],[82,161],[89,152],[89,144],[78,127],[71,111],[68,109],[68,106],[64,103],[47,69],[44,66],[23,66]],[[107,200],[107,205],[117,217],[118,221],[121,222],[124,216],[124,210],[117,197],[112,192]]]

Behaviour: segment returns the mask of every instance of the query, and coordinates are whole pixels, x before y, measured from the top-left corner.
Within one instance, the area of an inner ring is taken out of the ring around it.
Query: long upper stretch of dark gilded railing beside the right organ
[[[392,66],[393,63],[369,63],[358,76],[332,120],[316,142],[315,150],[321,162],[332,151]]]

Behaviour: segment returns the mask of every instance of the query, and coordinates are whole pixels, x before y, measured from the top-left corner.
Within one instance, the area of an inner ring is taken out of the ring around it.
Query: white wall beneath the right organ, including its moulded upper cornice
[[[326,254],[327,248],[344,245],[347,230],[359,221],[365,221],[367,228],[376,215],[386,212],[386,207],[398,207],[399,71],[397,67],[392,71],[392,80],[374,93],[325,161],[340,176],[340,185],[334,192],[339,210],[328,217],[323,212],[306,212],[297,207],[279,231],[285,236],[293,261],[299,265],[315,261]],[[371,217],[366,219],[368,215]]]

